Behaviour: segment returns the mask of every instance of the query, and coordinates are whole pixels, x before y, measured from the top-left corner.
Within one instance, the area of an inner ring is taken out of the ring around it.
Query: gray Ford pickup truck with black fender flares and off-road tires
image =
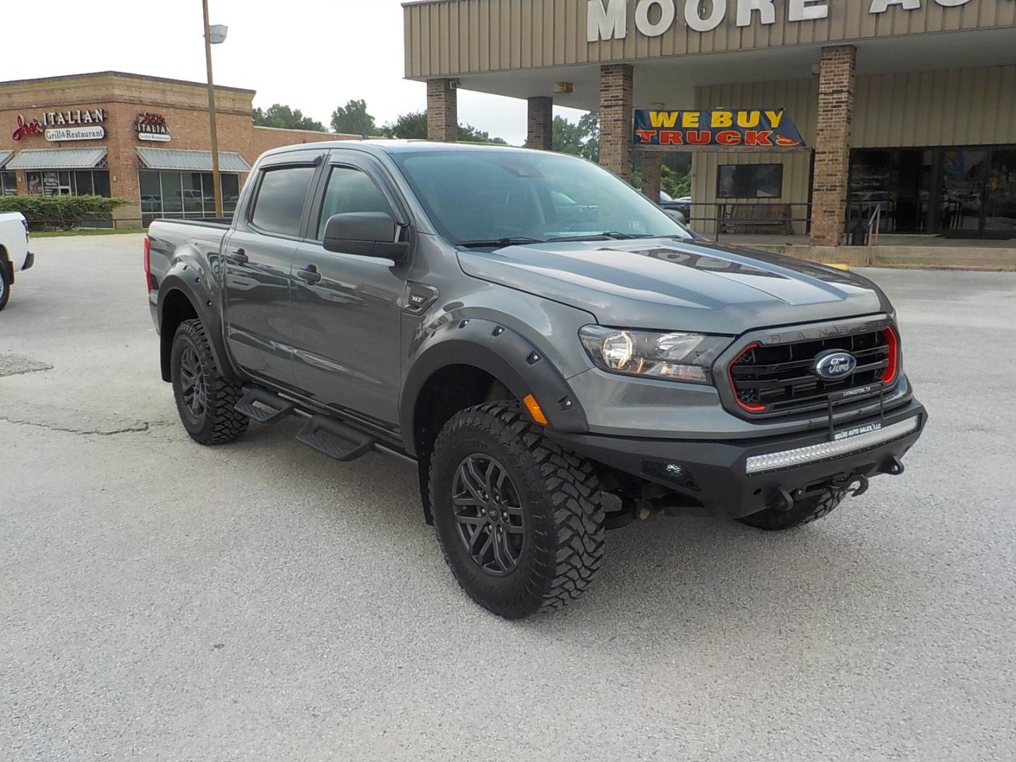
[[[927,420],[874,283],[710,244],[551,152],[272,150],[231,225],[153,223],[145,271],[194,440],[296,416],[337,460],[414,464],[455,578],[507,618],[578,597],[633,519],[824,516]]]

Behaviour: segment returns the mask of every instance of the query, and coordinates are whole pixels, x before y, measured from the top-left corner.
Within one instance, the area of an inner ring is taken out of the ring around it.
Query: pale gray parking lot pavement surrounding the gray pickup
[[[1016,274],[865,273],[932,417],[903,477],[781,535],[619,530],[578,605],[508,623],[409,467],[187,438],[138,237],[34,248],[0,314],[0,759],[1016,758]]]

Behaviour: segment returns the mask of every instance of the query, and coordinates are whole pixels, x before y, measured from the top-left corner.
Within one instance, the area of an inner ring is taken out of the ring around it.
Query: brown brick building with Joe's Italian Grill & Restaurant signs
[[[224,210],[269,148],[358,139],[255,127],[254,90],[215,87]],[[200,82],[107,71],[0,82],[0,192],[96,193],[130,203],[117,225],[214,214],[208,89]]]

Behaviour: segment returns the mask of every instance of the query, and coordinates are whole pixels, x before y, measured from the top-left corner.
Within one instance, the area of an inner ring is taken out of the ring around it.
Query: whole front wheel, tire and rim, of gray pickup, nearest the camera
[[[592,464],[567,453],[515,403],[455,415],[431,459],[431,506],[462,589],[506,619],[564,606],[604,558],[604,508]]]

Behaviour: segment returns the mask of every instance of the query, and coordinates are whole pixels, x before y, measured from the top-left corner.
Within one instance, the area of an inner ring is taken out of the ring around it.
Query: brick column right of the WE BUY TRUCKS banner
[[[842,240],[856,68],[858,49],[852,45],[822,49],[812,185],[812,246],[838,246]]]

